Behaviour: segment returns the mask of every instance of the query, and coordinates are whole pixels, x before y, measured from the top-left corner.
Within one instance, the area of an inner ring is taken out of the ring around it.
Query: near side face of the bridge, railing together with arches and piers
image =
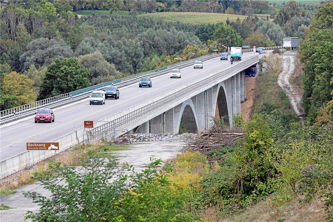
[[[184,85],[105,119],[108,123],[89,131],[90,140],[100,140],[106,134],[116,137],[125,129],[133,128],[136,133],[178,133],[181,118],[186,130],[193,133],[208,127],[212,116],[224,116],[224,121],[232,125],[233,114],[240,112],[240,104],[246,99],[245,71],[258,70],[259,56],[244,55],[241,62],[230,65],[226,61],[225,68],[192,78]],[[186,70],[193,68],[184,68],[182,78]]]

